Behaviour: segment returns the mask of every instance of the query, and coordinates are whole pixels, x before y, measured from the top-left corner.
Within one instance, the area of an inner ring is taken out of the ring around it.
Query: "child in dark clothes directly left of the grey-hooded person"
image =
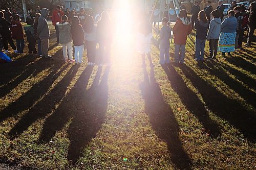
[[[33,19],[27,17],[27,26],[24,27],[27,40],[29,43],[29,54],[37,54],[35,49],[35,34],[34,34],[34,21]]]

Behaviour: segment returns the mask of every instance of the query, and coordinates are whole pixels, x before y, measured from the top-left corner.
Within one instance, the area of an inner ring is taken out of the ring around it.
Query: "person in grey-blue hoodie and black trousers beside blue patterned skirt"
[[[210,26],[207,34],[207,41],[209,41],[210,56],[209,59],[216,59],[218,53],[218,41],[221,34],[221,16],[218,10],[211,12]]]

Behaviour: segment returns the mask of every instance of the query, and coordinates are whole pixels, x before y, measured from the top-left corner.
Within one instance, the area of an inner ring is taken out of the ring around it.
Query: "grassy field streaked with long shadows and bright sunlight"
[[[113,43],[111,67],[93,67],[64,63],[53,30],[52,60],[13,54],[12,63],[0,65],[0,162],[28,169],[255,169],[255,43],[232,58],[197,63],[191,35],[184,65],[162,67],[152,45],[151,69],[141,67],[134,41],[124,37]],[[173,61],[174,44],[170,55]]]

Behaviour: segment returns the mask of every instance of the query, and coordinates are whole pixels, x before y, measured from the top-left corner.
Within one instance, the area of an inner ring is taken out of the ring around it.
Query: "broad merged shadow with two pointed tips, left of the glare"
[[[82,156],[82,150],[96,136],[103,123],[108,104],[109,67],[104,71],[101,81],[102,67],[98,67],[90,89],[87,88],[92,73],[92,66],[82,73],[76,84],[56,111],[46,120],[39,137],[39,142],[48,142],[57,131],[61,130],[70,119],[68,133],[70,145],[68,158],[76,163]]]

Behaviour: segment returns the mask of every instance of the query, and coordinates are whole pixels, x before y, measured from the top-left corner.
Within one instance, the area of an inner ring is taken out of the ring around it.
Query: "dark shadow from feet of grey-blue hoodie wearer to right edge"
[[[214,61],[212,61],[214,62]],[[219,66],[219,64],[207,62],[208,71],[211,75],[215,75],[219,79],[221,79],[226,85],[228,85],[231,89],[236,91],[239,95],[244,98],[247,103],[251,104],[254,108],[256,108],[255,93],[247,88],[245,88],[240,82],[233,80],[231,77],[227,75],[227,73]],[[217,66],[217,68],[215,67]]]

